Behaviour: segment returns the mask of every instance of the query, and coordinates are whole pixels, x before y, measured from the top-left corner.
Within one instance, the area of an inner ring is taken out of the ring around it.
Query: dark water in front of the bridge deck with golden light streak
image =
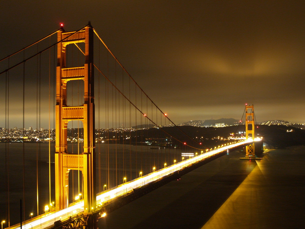
[[[305,147],[234,151],[109,213],[99,228],[303,228]]]

